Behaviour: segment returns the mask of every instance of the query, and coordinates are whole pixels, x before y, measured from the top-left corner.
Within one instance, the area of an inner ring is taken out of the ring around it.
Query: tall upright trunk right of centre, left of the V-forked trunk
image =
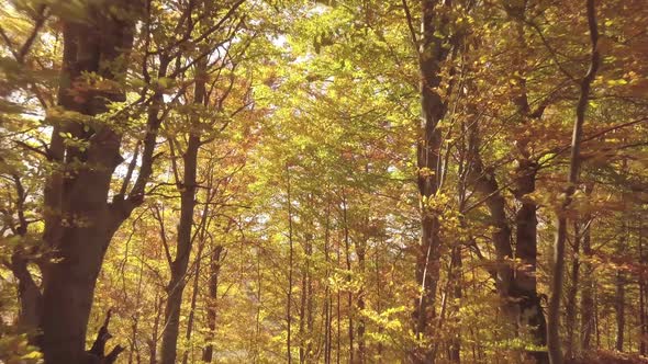
[[[442,62],[447,59],[449,54],[448,49],[443,47],[445,39],[438,36],[438,32],[445,31],[447,19],[445,15],[442,16],[443,19],[437,19],[439,14],[437,7],[446,5],[446,2],[442,3],[438,0],[424,0],[421,8],[423,33],[418,66],[421,71],[422,127],[416,158],[421,196],[421,243],[416,258],[416,281],[421,285],[421,295],[415,303],[413,312],[416,339],[433,337],[432,320],[435,316],[434,307],[440,270],[439,226],[431,203],[437,192],[440,177],[442,136],[437,124],[446,114],[446,105],[435,89],[440,86]],[[426,346],[412,353],[414,363],[434,361],[432,345]]]

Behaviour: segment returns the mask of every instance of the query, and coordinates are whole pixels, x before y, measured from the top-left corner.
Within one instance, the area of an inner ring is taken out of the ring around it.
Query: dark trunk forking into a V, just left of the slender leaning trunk
[[[521,260],[522,268],[513,268],[512,229],[506,216],[506,201],[496,181],[494,171],[484,168],[480,156],[479,124],[473,121],[469,130],[470,170],[468,171],[474,189],[487,196],[485,205],[491,215],[490,224],[494,227],[493,243],[495,246],[496,266],[494,271],[495,287],[501,298],[501,311],[510,323],[512,332],[521,330],[530,333],[538,345],[546,344],[546,323],[540,299],[537,294],[536,225],[537,206],[524,198],[535,191],[536,166],[530,161],[522,161],[516,171],[516,195],[522,207],[515,215],[516,250],[515,257]],[[534,352],[538,362],[546,362],[541,352]]]

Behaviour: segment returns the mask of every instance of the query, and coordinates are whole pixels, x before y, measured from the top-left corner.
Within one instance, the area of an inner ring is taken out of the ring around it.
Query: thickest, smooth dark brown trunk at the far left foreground
[[[88,5],[89,23],[64,20],[64,70],[59,104],[68,111],[94,116],[107,111],[105,100],[123,100],[123,91],[94,90],[70,95],[71,80],[83,72],[115,79],[105,64],[127,55],[133,44],[134,12],[130,1]],[[127,62],[122,62],[126,65]],[[120,70],[123,71],[123,70]],[[65,146],[60,133],[88,140],[86,149]],[[54,173],[45,186],[45,232],[47,247],[55,251],[43,272],[43,314],[40,345],[47,363],[81,363],[86,330],[97,276],[110,240],[136,202],[108,202],[110,182],[121,163],[121,135],[109,126],[83,130],[70,121],[54,128],[53,160],[72,166],[64,179]],[[144,177],[146,178],[146,177]],[[138,196],[141,198],[141,196]]]

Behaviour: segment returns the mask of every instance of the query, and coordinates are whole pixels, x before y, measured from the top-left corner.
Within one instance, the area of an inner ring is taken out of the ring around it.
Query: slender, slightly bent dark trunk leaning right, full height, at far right
[[[576,185],[578,184],[579,168],[580,168],[580,147],[583,134],[583,124],[585,121],[585,110],[590,99],[590,88],[592,81],[596,77],[599,69],[599,50],[596,43],[599,42],[599,29],[596,25],[596,10],[594,0],[586,2],[588,25],[591,41],[591,58],[590,68],[580,82],[580,96],[576,110],[576,122],[573,125],[573,136],[571,141],[571,156],[569,167],[568,186],[565,192],[565,201],[562,208],[558,215],[556,242],[554,246],[554,262],[552,262],[552,280],[551,280],[551,297],[549,299],[548,327],[547,327],[547,344],[549,349],[549,360],[551,364],[562,364],[562,351],[560,349],[560,299],[562,298],[562,281],[565,275],[565,241],[567,240],[567,209],[571,204]]]

